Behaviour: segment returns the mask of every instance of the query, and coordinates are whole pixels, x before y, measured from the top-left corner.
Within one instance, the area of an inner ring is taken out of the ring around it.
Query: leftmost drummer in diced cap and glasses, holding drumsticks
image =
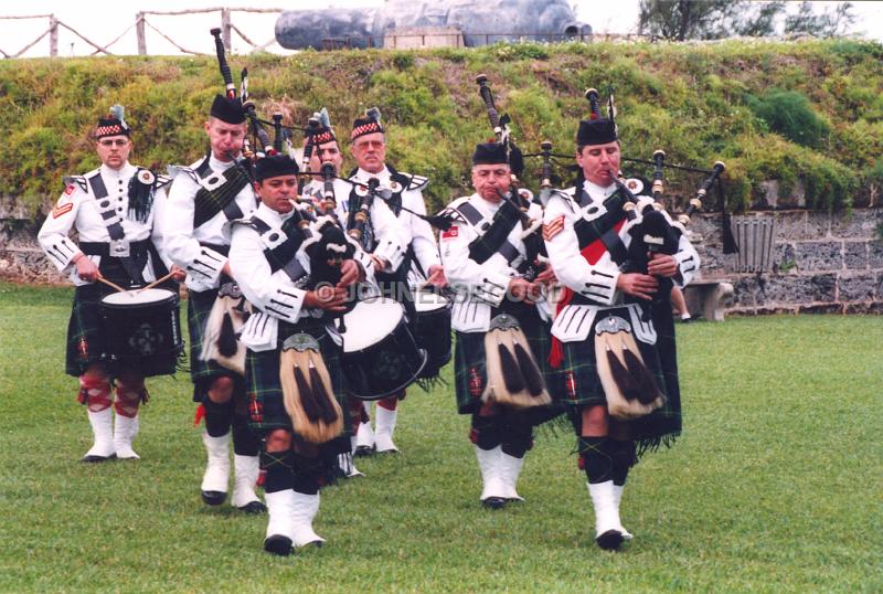
[[[106,349],[99,303],[123,289],[142,287],[167,275],[184,274],[157,246],[153,221],[160,215],[169,179],[129,162],[134,144],[121,106],[100,118],[93,130],[98,169],[65,178],[65,189],[38,234],[40,246],[76,286],[67,327],[65,371],[79,379],[77,401],[85,404],[94,443],[83,462],[138,459],[132,439],[138,409],[148,394],[145,378],[174,372],[169,364],[145,368],[139,361],[115,362]],[[77,232],[77,241],[68,237]],[[177,293],[177,283],[163,286]],[[116,399],[114,399],[114,393]],[[113,404],[113,412],[111,412]]]

